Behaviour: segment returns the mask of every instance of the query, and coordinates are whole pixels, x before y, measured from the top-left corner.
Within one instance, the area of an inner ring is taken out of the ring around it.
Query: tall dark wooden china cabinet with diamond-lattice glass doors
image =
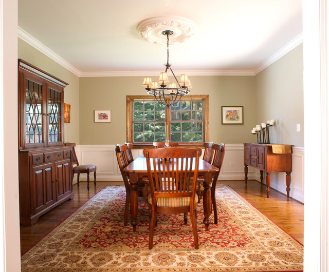
[[[72,199],[70,147],[64,145],[64,88],[68,85],[19,60],[20,222],[30,226]]]

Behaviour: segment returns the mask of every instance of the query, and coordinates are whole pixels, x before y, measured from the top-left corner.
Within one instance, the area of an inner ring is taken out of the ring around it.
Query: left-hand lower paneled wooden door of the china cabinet
[[[32,167],[33,214],[56,202],[54,164]]]

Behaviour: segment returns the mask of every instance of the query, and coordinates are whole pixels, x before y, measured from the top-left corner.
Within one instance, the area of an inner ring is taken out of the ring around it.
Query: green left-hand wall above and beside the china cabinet
[[[65,142],[80,144],[79,77],[20,38],[18,39],[18,57],[68,83],[64,89],[64,102],[71,105],[71,122],[64,124]]]

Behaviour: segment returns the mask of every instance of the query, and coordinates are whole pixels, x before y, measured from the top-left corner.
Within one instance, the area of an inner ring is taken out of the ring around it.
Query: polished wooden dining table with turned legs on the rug
[[[131,224],[133,225],[133,231],[136,231],[137,227],[137,214],[138,214],[138,192],[137,183],[142,177],[148,176],[148,168],[146,159],[143,155],[137,157],[133,162],[127,165],[123,169],[129,174],[130,182],[130,211],[131,211]],[[212,184],[212,173],[218,171],[218,168],[207,163],[206,161],[199,159],[199,170],[198,176],[204,178],[204,194],[203,194],[203,206],[204,206],[204,224],[206,230],[209,229],[210,224],[210,213],[211,213],[211,184]]]

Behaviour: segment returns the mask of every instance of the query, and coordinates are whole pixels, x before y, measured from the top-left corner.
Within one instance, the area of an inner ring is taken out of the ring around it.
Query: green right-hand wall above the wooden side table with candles
[[[303,45],[255,75],[255,87],[257,124],[277,122],[270,128],[271,143],[304,147]]]

